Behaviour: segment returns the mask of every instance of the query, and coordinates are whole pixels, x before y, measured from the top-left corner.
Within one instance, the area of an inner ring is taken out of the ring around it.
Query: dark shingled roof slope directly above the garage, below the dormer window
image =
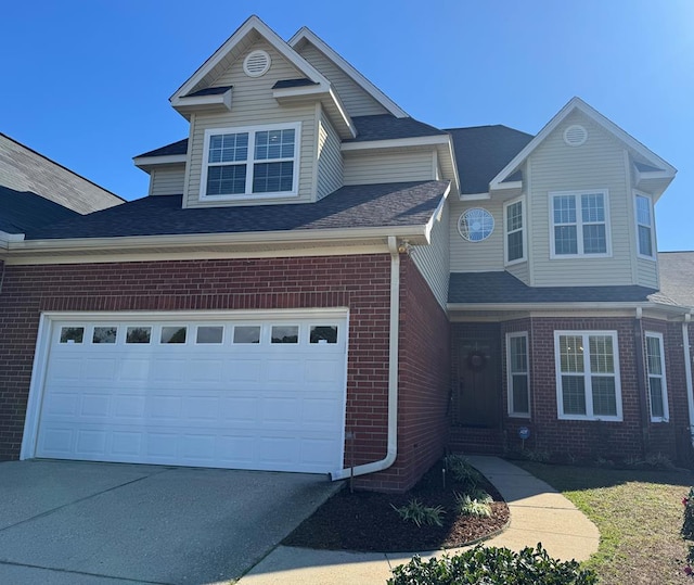
[[[426,225],[448,181],[343,187],[310,205],[183,208],[181,195],[131,201],[85,217],[46,226],[27,240],[120,238],[191,233],[406,227]]]

